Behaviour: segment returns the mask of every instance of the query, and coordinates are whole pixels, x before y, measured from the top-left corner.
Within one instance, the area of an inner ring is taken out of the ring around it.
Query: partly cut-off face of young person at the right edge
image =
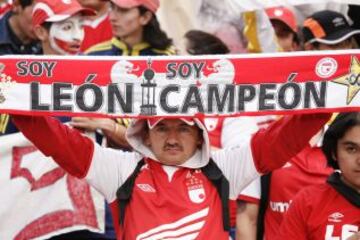
[[[337,143],[342,180],[360,193],[360,126],[350,128]]]

